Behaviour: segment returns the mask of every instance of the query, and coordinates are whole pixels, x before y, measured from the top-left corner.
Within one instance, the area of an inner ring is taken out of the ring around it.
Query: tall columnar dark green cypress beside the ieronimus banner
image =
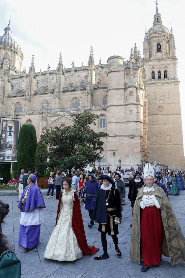
[[[23,124],[19,131],[17,171],[21,169],[35,168],[35,152],[37,137],[35,127],[32,124]]]

